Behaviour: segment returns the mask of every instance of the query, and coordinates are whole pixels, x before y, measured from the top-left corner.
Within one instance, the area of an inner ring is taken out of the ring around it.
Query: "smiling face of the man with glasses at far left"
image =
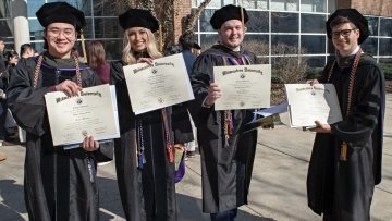
[[[75,27],[68,23],[51,23],[45,30],[48,42],[48,51],[51,56],[60,59],[70,58],[71,50],[75,46]]]

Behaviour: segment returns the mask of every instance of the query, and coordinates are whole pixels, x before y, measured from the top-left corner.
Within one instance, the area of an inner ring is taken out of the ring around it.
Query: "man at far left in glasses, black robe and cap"
[[[8,89],[13,116],[26,131],[24,193],[28,219],[97,221],[96,163],[110,160],[103,155],[110,144],[87,136],[81,148],[53,147],[44,98],[54,90],[73,96],[83,87],[100,84],[72,53],[77,32],[85,24],[84,14],[68,3],[56,2],[44,4],[37,17],[45,27],[48,50],[23,60]]]

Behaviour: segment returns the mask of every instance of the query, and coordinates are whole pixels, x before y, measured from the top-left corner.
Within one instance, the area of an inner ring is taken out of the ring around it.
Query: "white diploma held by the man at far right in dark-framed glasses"
[[[315,121],[342,121],[338,95],[332,84],[285,84],[292,127],[314,127]]]

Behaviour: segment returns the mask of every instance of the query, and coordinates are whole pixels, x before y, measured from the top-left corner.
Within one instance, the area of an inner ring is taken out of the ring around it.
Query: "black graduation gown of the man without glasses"
[[[201,155],[203,211],[216,213],[247,204],[257,130],[242,133],[253,118],[254,110],[232,110],[234,130],[229,142],[223,131],[223,111],[204,108],[201,103],[213,82],[213,66],[235,65],[233,59],[244,57],[245,64],[257,63],[256,56],[241,50],[234,52],[223,46],[212,46],[196,60],[192,72],[195,100],[191,113],[197,127]],[[229,59],[229,60],[228,60]]]

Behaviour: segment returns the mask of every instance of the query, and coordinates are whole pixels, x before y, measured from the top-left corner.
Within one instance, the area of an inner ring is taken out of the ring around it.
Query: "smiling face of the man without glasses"
[[[236,51],[244,40],[245,27],[240,20],[229,20],[218,29],[218,34],[223,46]]]

